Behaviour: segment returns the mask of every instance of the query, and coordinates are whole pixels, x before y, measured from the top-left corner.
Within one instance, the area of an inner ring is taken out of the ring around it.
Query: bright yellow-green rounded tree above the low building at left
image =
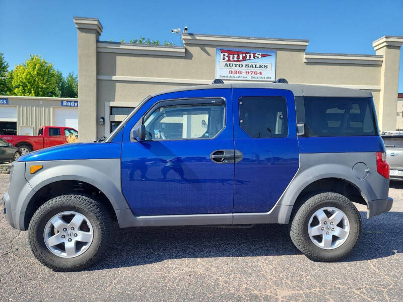
[[[53,64],[38,55],[30,55],[10,74],[11,94],[31,97],[60,97],[60,73]],[[9,78],[9,76],[8,76]]]

